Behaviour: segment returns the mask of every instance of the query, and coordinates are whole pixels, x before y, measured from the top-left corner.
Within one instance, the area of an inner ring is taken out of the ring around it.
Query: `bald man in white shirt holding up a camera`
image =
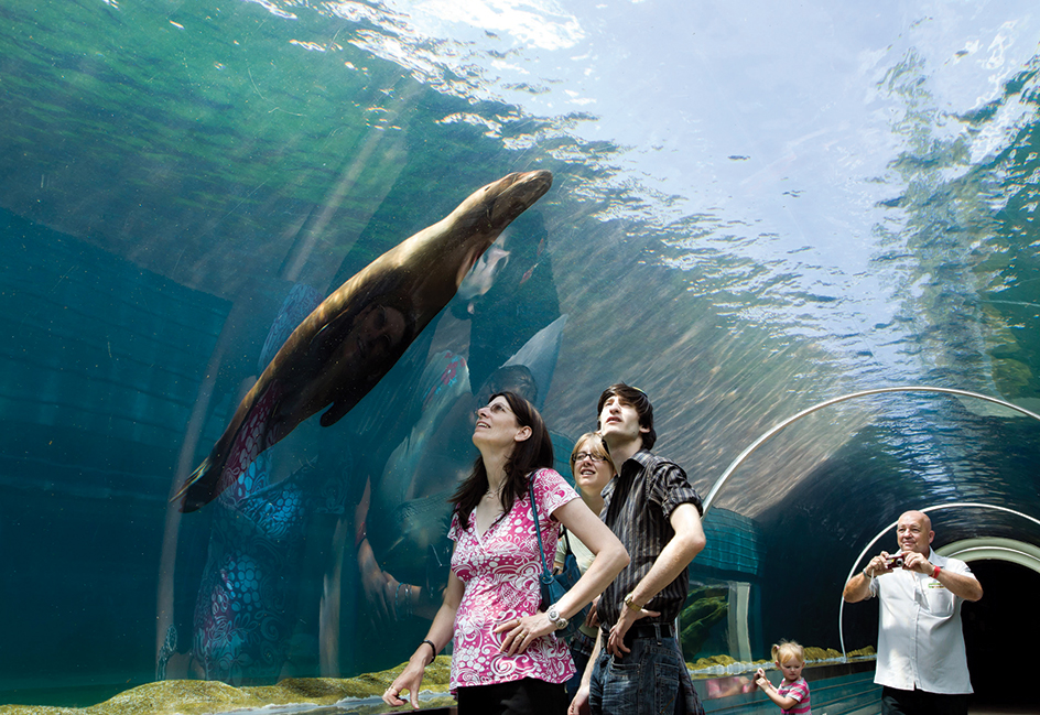
[[[932,551],[934,538],[927,514],[903,513],[896,524],[900,553],[882,551],[845,584],[851,604],[879,598],[874,682],[882,686],[882,715],[967,713],[961,604],[982,598],[983,587],[963,561]]]

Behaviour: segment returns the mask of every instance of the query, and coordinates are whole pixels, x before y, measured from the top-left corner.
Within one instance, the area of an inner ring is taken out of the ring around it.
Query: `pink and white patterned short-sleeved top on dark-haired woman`
[[[552,564],[560,535],[560,523],[552,512],[578,496],[552,469],[539,469],[532,478],[545,561]],[[505,633],[492,632],[503,621],[538,613],[542,563],[530,497],[524,492],[508,514],[479,537],[476,521],[470,514],[469,527],[462,529],[456,512],[447,534],[455,542],[452,572],[466,586],[455,615],[452,692],[521,678],[565,682],[574,674],[574,663],[566,643],[555,633],[539,638],[522,653],[507,656],[499,650]]]

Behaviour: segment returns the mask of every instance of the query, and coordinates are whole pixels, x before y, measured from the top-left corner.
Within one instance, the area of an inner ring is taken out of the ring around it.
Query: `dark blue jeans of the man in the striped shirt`
[[[593,715],[703,715],[674,638],[626,638],[625,644],[631,652],[620,659],[606,647],[599,651],[588,695]]]

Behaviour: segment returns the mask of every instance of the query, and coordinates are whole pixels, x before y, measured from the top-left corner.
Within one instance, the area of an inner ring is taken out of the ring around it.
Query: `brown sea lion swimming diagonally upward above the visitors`
[[[185,512],[208,503],[257,455],[326,407],[321,424],[335,424],[452,300],[502,229],[551,185],[548,171],[488,184],[340,285],[289,336],[172,501],[181,499]]]

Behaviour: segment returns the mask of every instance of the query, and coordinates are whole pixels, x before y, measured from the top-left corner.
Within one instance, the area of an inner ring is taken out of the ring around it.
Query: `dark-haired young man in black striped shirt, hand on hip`
[[[686,600],[687,566],[704,549],[701,497],[679,465],[650,453],[653,407],[642,390],[614,384],[598,411],[599,432],[620,469],[603,491],[600,518],[631,562],[599,598],[599,637],[570,713],[587,706],[594,715],[700,715],[675,619]]]

